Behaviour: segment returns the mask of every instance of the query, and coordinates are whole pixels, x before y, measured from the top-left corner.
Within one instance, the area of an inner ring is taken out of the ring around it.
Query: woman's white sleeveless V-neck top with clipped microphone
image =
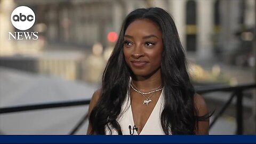
[[[130,91],[130,90],[129,90]],[[164,131],[161,125],[161,113],[164,107],[164,97],[163,91],[154,107],[152,113],[150,114],[145,126],[143,127],[140,135],[164,135]],[[132,115],[132,107],[131,107],[131,99],[129,96],[129,92],[126,94],[126,98],[124,104],[121,109],[121,114],[117,119],[117,122],[121,126],[122,133],[124,135],[130,135],[129,125],[133,128],[134,121]],[[110,125],[109,125],[110,126]],[[111,127],[111,126],[110,126]],[[111,129],[111,128],[110,128]],[[106,134],[110,134],[107,126],[106,126]],[[115,129],[111,129],[112,134],[118,134]],[[133,130],[131,130],[133,133]],[[138,135],[137,131],[134,130],[133,135]]]

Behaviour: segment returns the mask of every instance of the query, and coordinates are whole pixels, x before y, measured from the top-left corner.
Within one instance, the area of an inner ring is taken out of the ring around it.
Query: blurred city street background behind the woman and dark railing
[[[9,39],[9,32],[20,31],[10,17],[21,5],[35,12],[36,22],[26,31],[37,31],[37,40]],[[196,89],[255,84],[254,0],[0,0],[0,108],[90,100],[125,16],[152,6],[172,15]],[[215,110],[211,121],[233,91],[238,89],[202,94]],[[242,94],[242,119],[232,99],[210,134],[255,134],[255,87]],[[0,134],[68,134],[87,109],[0,113]],[[86,134],[87,123],[76,134]]]

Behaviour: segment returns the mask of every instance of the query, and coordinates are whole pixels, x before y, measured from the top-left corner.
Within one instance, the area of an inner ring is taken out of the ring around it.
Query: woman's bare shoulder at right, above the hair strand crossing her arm
[[[202,95],[196,93],[194,95],[194,103],[198,116],[203,116],[208,113],[207,105]]]

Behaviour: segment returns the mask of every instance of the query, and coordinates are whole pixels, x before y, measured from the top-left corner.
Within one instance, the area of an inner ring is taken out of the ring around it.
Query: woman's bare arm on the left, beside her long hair
[[[96,105],[97,101],[99,100],[100,98],[100,93],[101,93],[101,89],[95,91],[92,95],[92,99],[91,99],[91,102],[90,102],[90,105],[89,105],[89,110],[88,110],[88,116],[90,117],[90,114],[92,112],[92,109],[94,108],[94,106]],[[87,129],[87,134],[91,134],[91,131],[92,131],[92,125],[90,123],[90,120],[89,120],[89,125],[88,125],[88,129]]]

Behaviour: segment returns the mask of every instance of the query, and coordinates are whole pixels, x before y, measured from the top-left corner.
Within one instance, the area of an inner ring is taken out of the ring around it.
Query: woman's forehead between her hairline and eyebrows
[[[125,30],[125,35],[157,35],[162,36],[161,29],[157,23],[148,19],[139,19],[130,23]]]

